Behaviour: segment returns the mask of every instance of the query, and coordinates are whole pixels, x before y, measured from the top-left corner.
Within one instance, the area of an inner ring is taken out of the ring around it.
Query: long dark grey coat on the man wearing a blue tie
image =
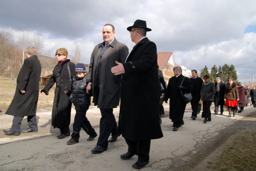
[[[94,105],[98,105],[101,109],[112,109],[119,105],[120,93],[121,93],[121,75],[115,76],[111,73],[111,68],[116,66],[115,61],[120,63],[125,62],[129,51],[128,47],[120,43],[114,38],[105,49],[102,56],[99,79],[100,79],[100,91],[97,92],[96,74],[100,54],[102,53],[105,42],[97,44],[92,51],[89,72],[87,75],[87,81],[92,82],[93,102]],[[98,86],[98,85],[97,85]]]

